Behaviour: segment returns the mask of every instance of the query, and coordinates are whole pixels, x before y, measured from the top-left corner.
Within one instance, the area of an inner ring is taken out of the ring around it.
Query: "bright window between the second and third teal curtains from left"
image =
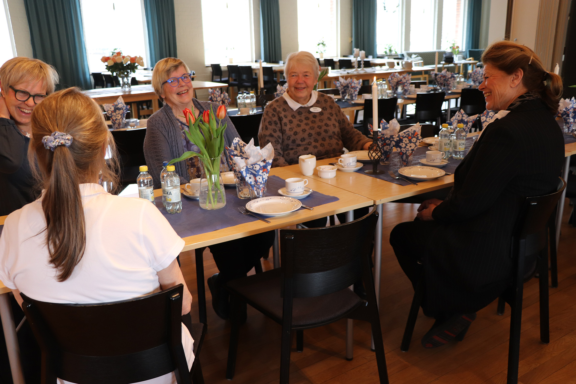
[[[249,0],[202,0],[206,64],[251,62],[253,24]]]

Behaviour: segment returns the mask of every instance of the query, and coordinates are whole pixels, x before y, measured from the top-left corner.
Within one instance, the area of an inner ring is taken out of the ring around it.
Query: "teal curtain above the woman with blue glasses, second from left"
[[[164,58],[177,58],[174,0],[144,0],[144,11],[150,46],[149,66],[153,67]]]

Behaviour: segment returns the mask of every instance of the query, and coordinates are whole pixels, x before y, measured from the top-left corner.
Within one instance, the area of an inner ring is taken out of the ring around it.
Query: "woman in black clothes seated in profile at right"
[[[422,272],[422,309],[436,319],[425,348],[463,337],[476,311],[511,279],[510,241],[522,201],[558,187],[564,141],[554,119],[562,81],[530,48],[498,41],[484,51],[486,109],[510,111],[489,124],[454,172],[444,201],[426,200],[412,222],[390,235],[400,266],[415,286]],[[422,269],[423,268],[423,269]]]

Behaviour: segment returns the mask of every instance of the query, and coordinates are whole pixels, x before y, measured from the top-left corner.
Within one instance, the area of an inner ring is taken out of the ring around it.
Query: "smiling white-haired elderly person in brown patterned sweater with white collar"
[[[288,89],[264,109],[258,139],[272,143],[272,166],[298,164],[300,155],[317,159],[367,150],[372,140],[356,130],[334,99],[314,89],[320,67],[310,52],[288,55],[284,71]]]

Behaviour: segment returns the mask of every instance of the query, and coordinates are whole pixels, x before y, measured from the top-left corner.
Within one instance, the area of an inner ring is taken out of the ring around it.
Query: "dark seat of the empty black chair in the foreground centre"
[[[281,269],[232,280],[228,288],[244,296],[247,302],[266,313],[272,320],[282,324],[282,303],[280,296]],[[292,326],[322,324],[347,313],[361,305],[362,299],[350,289],[311,298],[294,298]]]

